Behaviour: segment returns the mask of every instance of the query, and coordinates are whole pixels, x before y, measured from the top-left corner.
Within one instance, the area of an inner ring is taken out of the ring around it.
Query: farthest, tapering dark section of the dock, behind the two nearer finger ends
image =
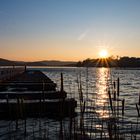
[[[5,76],[8,77],[8,76]],[[41,71],[26,70],[3,80],[0,84],[1,90],[10,87],[11,90],[26,91],[55,91],[56,84]],[[9,89],[10,89],[9,88]]]

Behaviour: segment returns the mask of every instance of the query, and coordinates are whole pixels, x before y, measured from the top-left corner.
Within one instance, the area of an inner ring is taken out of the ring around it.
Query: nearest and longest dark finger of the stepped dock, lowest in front
[[[64,118],[75,116],[77,102],[74,99],[52,101],[25,101],[16,99],[15,102],[0,103],[0,119],[16,120],[25,118]]]

